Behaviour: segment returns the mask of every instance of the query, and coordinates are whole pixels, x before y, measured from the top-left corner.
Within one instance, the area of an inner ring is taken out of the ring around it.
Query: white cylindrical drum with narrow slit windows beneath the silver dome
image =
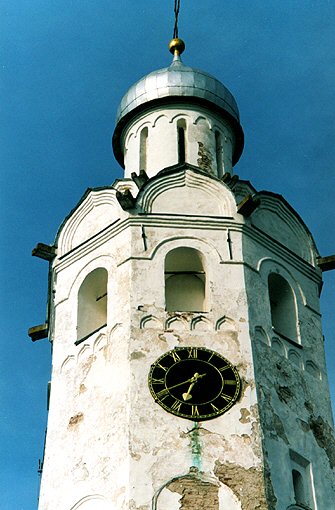
[[[220,116],[202,107],[190,107],[186,104],[178,108],[156,107],[131,120],[123,132],[121,145],[124,152],[125,177],[140,168],[141,131],[148,129],[146,143],[149,177],[160,170],[178,163],[177,122],[185,120],[186,162],[195,166],[204,166],[199,155],[200,146],[208,157],[208,172],[221,177],[225,172],[232,173],[232,152],[234,147],[233,130]],[[222,141],[222,168],[217,166],[215,132],[220,133]]]

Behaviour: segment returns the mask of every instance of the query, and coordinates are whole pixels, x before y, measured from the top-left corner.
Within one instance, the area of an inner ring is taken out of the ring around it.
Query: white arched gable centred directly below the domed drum
[[[236,213],[235,199],[227,186],[208,174],[190,169],[160,174],[159,179],[153,178],[139,194],[139,205],[147,213],[194,215],[194,200],[200,216],[233,217]]]

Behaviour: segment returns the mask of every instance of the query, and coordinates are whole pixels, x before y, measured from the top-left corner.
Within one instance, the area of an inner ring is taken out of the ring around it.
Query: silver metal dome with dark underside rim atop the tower
[[[236,163],[244,145],[243,130],[237,103],[229,90],[214,76],[185,66],[175,56],[169,67],[147,74],[132,85],[123,96],[116,116],[113,135],[114,153],[123,166],[120,136],[124,126],[137,113],[157,104],[202,104],[223,115],[230,121],[236,137],[234,161]]]

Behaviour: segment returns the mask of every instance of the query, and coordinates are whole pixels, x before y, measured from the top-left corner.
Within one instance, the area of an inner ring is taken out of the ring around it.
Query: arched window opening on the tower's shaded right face
[[[286,339],[297,341],[295,297],[288,282],[277,273],[269,275],[269,298],[273,329]]]

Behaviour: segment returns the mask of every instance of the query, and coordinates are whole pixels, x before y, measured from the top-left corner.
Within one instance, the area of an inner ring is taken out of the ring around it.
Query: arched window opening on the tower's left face
[[[107,323],[107,271],[89,273],[78,292],[77,339],[87,337]]]

